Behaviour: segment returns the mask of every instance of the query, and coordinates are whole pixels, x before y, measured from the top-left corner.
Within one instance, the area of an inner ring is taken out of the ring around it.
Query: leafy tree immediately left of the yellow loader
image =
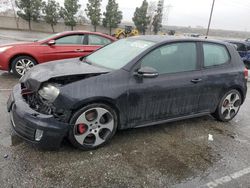
[[[116,3],[115,0],[109,0],[106,6],[106,12],[104,12],[103,15],[103,26],[109,28],[109,34],[111,35],[112,28],[116,28],[122,20],[122,12],[118,10],[118,3]]]

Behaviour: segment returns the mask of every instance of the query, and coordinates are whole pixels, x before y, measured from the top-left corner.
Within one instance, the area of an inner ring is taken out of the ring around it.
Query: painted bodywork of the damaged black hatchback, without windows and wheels
[[[32,117],[34,110],[29,110],[29,105],[20,94],[20,88],[24,85],[25,89],[37,92],[43,83],[51,80],[54,82],[57,78],[61,78],[62,81],[75,75],[82,77],[60,85],[60,94],[53,102],[55,109],[67,110],[71,116],[73,112],[87,104],[102,102],[117,112],[119,129],[213,113],[222,95],[230,88],[239,90],[242,99],[245,99],[247,81],[243,73],[244,64],[230,44],[202,39],[168,39],[159,36],[142,36],[134,37],[134,39],[154,41],[156,44],[118,70],[89,65],[79,60],[65,60],[34,67],[21,78],[21,84],[15,86],[13,90],[14,99],[10,99],[12,101],[10,103],[15,106],[11,108],[13,113],[19,114],[21,111],[26,111],[22,114],[23,121],[31,127],[42,126],[42,129],[60,127],[62,130],[59,129],[58,134],[62,133],[62,137],[65,136],[70,126],[69,122],[52,120],[53,114],[44,115],[36,111],[39,115]],[[197,47],[196,70],[162,74],[156,78],[142,78],[135,75],[142,57],[159,46],[175,42],[195,43]],[[204,57],[201,55],[203,43],[225,46],[230,54],[230,61],[222,66],[204,68]],[[22,109],[23,105],[24,109]],[[37,124],[33,123],[35,119],[39,119]],[[61,137],[58,140],[61,140]]]

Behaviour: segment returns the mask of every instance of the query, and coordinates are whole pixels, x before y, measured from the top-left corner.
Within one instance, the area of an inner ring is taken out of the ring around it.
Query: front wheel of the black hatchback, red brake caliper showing
[[[114,136],[117,125],[115,110],[102,103],[90,104],[72,116],[68,138],[79,149],[96,149]]]

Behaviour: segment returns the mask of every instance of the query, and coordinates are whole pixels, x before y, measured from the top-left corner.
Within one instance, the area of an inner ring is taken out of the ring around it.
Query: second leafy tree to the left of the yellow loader
[[[94,26],[94,31],[96,31],[96,26],[100,25],[101,21],[101,0],[88,0],[87,8],[85,12]]]

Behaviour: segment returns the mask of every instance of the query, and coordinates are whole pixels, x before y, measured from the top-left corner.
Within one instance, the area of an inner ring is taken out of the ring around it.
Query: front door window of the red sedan
[[[84,35],[68,35],[56,39],[57,45],[83,45]]]

